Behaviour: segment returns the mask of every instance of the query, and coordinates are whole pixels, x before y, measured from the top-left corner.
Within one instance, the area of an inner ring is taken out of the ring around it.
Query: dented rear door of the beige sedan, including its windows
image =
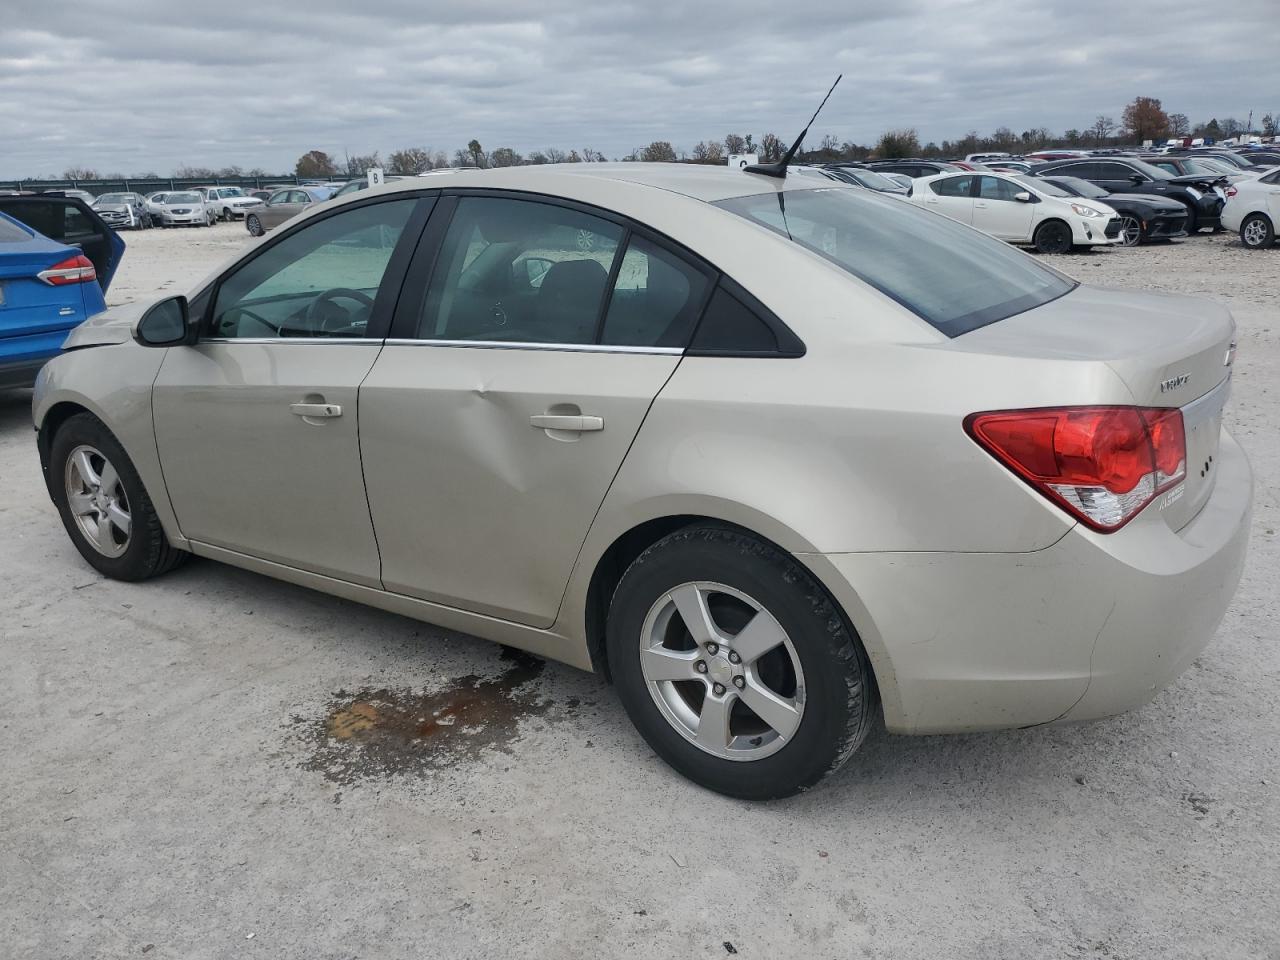
[[[608,214],[474,193],[408,276],[360,390],[383,585],[550,626],[712,275]]]

